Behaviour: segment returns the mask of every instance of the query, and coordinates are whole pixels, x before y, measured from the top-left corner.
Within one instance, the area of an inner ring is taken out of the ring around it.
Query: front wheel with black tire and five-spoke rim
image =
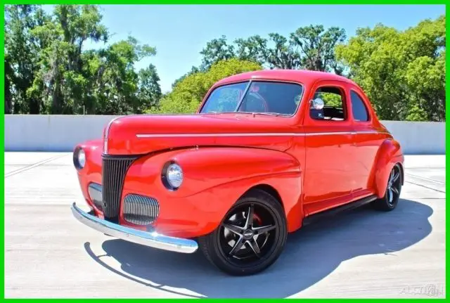
[[[240,198],[221,224],[198,242],[205,257],[221,271],[247,276],[274,264],[287,236],[281,203],[255,190]]]

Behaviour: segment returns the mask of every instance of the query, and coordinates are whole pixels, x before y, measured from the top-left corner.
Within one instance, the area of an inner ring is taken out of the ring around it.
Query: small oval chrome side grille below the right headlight
[[[124,219],[136,225],[152,224],[160,214],[158,200],[143,195],[129,194],[124,198]]]

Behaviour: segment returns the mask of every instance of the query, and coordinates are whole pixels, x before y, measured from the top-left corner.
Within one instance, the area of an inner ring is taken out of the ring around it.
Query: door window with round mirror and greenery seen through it
[[[309,115],[314,120],[342,121],[347,117],[345,112],[345,94],[341,89],[333,86],[323,86],[317,89],[313,101],[320,99],[319,103],[311,101]],[[323,107],[317,106],[323,101]]]

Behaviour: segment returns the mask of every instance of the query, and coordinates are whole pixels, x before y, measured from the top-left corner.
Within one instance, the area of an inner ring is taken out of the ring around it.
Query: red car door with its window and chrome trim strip
[[[345,82],[321,81],[311,89],[312,99],[321,98],[322,109],[307,104],[304,111],[305,154],[304,212],[314,214],[352,197],[353,124]]]

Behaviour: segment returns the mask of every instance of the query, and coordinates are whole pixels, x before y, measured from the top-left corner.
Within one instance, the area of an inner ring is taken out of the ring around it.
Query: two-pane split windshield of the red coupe
[[[294,115],[302,98],[300,84],[285,82],[240,82],[219,86],[200,112],[255,112]]]

